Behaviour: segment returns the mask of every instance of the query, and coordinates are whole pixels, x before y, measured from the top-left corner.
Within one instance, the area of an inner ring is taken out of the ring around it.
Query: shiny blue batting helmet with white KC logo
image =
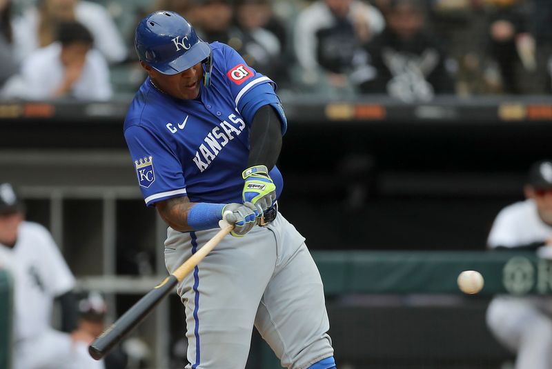
[[[208,80],[211,48],[175,12],[160,10],[142,19],[136,28],[135,47],[141,61],[163,74],[177,74],[203,61]]]

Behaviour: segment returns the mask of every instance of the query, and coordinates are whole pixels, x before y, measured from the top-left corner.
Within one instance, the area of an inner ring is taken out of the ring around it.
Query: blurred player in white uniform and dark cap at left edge
[[[0,184],[0,268],[14,278],[14,369],[102,369],[88,355],[94,337],[50,327],[55,297],[75,278],[46,228],[23,221],[12,186]]]

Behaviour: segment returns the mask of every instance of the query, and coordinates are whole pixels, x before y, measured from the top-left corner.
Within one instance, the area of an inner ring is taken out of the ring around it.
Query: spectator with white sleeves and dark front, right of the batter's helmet
[[[347,88],[353,68],[366,63],[362,45],[384,28],[379,10],[360,0],[317,0],[302,10],[294,30],[294,49],[306,84]],[[365,78],[357,68],[352,79]],[[359,81],[353,81],[359,83]]]

